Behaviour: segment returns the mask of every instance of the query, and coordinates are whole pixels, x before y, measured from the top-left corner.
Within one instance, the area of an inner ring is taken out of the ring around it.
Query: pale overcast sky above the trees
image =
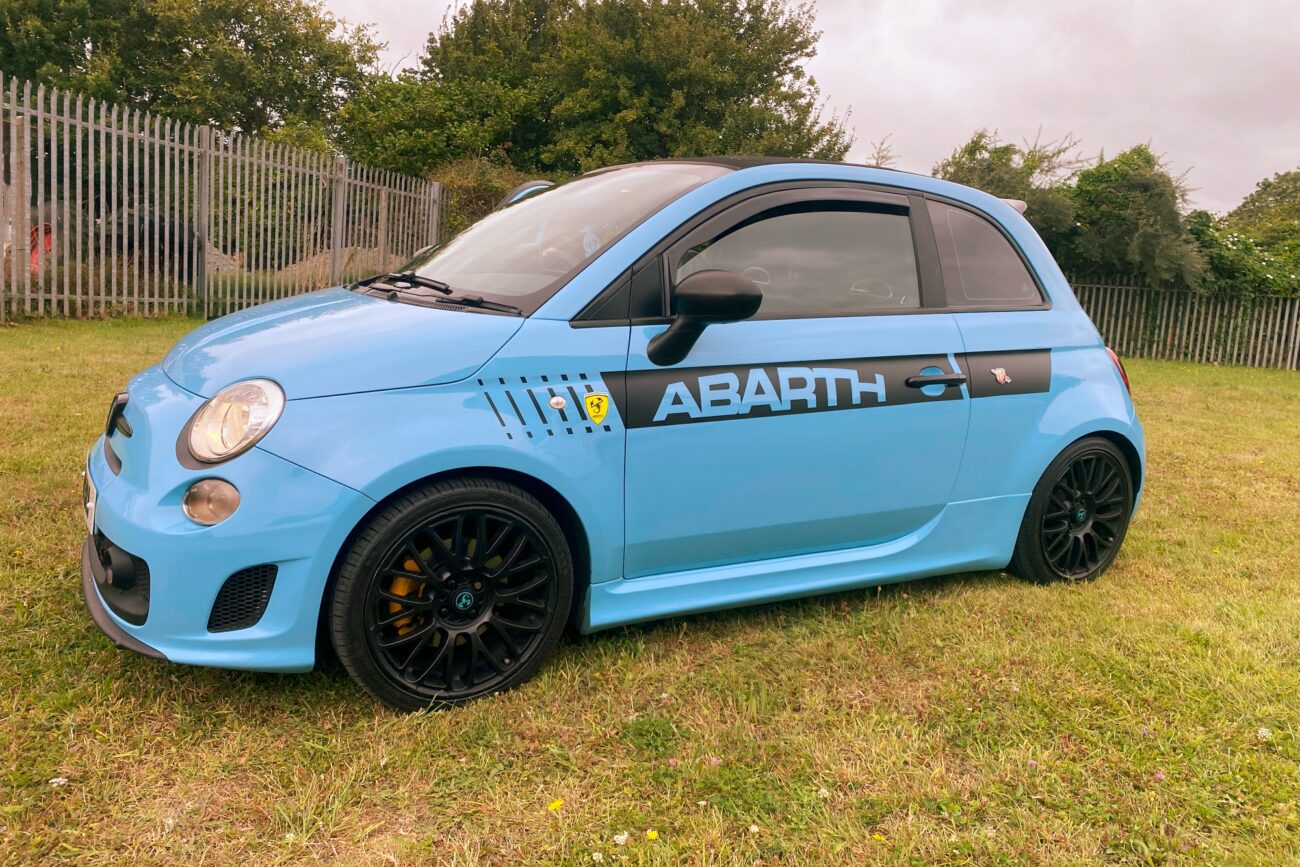
[[[451,3],[326,5],[400,68]],[[982,126],[1088,155],[1149,140],[1210,211],[1300,166],[1300,0],[820,0],[818,27],[809,69],[849,113],[850,160],[890,135],[897,168],[928,174]]]

